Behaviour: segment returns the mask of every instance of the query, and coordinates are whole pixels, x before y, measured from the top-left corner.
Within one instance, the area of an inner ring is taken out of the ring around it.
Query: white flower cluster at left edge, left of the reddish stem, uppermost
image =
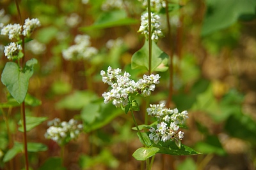
[[[20,24],[8,24],[1,29],[1,35],[9,36],[9,39],[20,39],[21,26]]]

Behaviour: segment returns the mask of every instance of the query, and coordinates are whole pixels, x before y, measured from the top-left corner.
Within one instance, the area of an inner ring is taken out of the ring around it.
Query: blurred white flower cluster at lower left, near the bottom
[[[49,128],[44,134],[45,138],[56,141],[58,145],[65,145],[70,140],[76,139],[83,130],[83,125],[77,124],[77,120],[74,119],[60,122],[60,118],[54,118],[47,125]]]

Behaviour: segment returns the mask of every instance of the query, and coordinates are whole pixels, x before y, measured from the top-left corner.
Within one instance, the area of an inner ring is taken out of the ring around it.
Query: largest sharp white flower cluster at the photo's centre
[[[111,85],[112,89],[109,92],[104,92],[104,103],[108,103],[113,100],[117,108],[127,106],[129,102],[129,96],[135,94],[141,94],[143,96],[150,96],[151,91],[155,90],[156,84],[159,83],[159,74],[151,74],[150,76],[144,75],[138,81],[131,80],[129,73],[125,72],[124,75],[120,75],[121,69],[112,69],[108,67],[107,73],[100,71],[102,81]]]

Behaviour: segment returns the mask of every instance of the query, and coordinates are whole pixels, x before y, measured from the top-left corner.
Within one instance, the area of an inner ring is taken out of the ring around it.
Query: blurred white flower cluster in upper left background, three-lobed
[[[75,45],[70,46],[67,50],[62,51],[63,58],[66,60],[90,59],[97,54],[98,50],[91,45],[90,36],[77,35]]]

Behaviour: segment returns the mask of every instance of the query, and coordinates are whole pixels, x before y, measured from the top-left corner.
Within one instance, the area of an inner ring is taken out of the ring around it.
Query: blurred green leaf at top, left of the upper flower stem
[[[138,20],[134,18],[127,18],[124,10],[107,11],[102,13],[93,25],[81,27],[80,29],[81,31],[88,31],[132,24],[138,24]]]

